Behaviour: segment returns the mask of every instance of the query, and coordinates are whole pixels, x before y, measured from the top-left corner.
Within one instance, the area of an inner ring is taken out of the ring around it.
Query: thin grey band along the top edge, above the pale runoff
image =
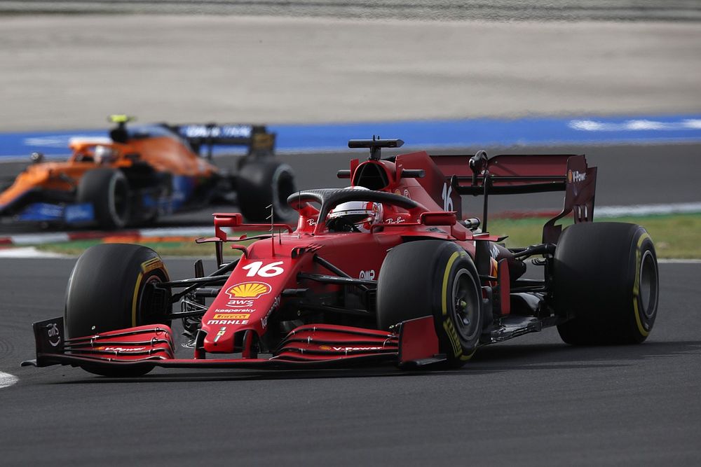
[[[490,21],[698,21],[696,0],[4,0],[0,12],[175,13]]]

